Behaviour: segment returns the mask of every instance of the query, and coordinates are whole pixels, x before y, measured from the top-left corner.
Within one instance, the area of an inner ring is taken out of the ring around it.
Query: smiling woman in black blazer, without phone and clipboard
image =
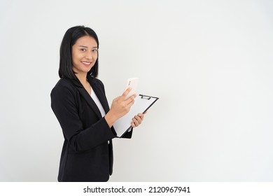
[[[130,89],[113,99],[111,109],[98,74],[97,34],[88,27],[66,31],[60,48],[60,80],[52,89],[51,107],[64,134],[58,181],[108,181],[113,169],[113,123],[130,111]],[[137,127],[144,119],[132,119]],[[125,134],[132,137],[132,130]]]

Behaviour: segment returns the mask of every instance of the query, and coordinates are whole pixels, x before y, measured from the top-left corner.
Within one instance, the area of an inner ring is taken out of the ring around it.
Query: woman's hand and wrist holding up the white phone
[[[127,94],[129,94],[131,90],[131,88],[127,88],[120,97],[113,99],[111,109],[105,116],[109,127],[112,127],[118,118],[125,116],[125,114],[130,111],[131,106],[134,104],[134,98],[137,97],[137,94],[133,94],[126,99]]]

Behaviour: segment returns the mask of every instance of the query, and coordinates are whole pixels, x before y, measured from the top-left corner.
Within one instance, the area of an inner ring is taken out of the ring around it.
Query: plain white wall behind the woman
[[[273,181],[273,3],[0,1],[0,181],[57,181],[50,108],[67,29],[97,32],[109,104],[127,78],[160,97],[114,139],[110,181]]]

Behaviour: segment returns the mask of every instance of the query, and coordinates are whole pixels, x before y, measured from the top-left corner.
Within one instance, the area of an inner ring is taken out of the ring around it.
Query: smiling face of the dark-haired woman
[[[82,36],[72,45],[72,70],[86,74],[97,61],[97,41],[91,36]]]

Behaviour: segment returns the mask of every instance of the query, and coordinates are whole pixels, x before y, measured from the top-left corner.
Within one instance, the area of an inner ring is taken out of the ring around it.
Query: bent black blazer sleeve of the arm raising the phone
[[[64,138],[74,151],[87,151],[116,137],[105,118],[83,129],[77,108],[76,91],[55,86],[51,94],[51,107],[62,127]]]

